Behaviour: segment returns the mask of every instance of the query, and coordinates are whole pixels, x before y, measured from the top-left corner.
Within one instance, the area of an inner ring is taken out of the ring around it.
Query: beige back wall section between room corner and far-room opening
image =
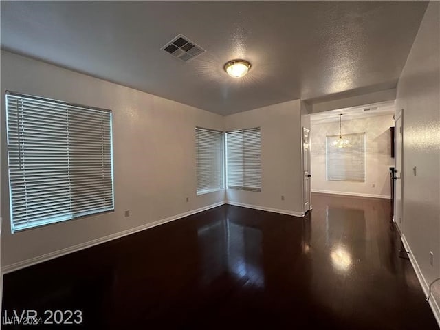
[[[225,117],[226,131],[252,127],[261,127],[261,192],[228,189],[228,203],[300,215],[300,100]],[[281,200],[281,195],[285,200]]]

